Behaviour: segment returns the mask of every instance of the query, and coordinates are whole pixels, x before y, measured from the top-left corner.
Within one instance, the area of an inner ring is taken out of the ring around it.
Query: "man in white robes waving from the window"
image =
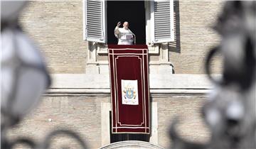
[[[129,30],[129,23],[124,22],[123,28],[119,28],[121,22],[117,23],[117,26],[114,28],[114,35],[118,38],[117,45],[133,45],[134,33]]]

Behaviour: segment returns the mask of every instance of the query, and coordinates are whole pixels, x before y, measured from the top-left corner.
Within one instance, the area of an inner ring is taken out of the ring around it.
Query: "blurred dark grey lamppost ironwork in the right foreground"
[[[226,1],[214,26],[222,39],[206,58],[206,72],[215,84],[202,115],[210,129],[208,143],[184,140],[171,125],[172,149],[256,148],[256,1]],[[212,57],[223,55],[221,79],[210,75]]]

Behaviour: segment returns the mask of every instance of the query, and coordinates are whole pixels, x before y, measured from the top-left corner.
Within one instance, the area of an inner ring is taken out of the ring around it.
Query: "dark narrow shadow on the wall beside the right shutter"
[[[168,43],[168,49],[173,53],[181,53],[179,1],[174,1],[174,42]]]

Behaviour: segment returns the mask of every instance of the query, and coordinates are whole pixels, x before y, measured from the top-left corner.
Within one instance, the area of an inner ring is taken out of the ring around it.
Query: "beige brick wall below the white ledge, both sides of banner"
[[[206,96],[202,94],[152,99],[158,105],[158,145],[165,148],[171,145],[168,128],[172,118],[177,115],[181,118],[178,131],[183,138],[207,141],[209,134],[200,112],[205,100]],[[18,127],[11,129],[9,136],[30,136],[42,141],[50,131],[68,128],[80,133],[90,148],[100,148],[101,102],[109,101],[110,96],[44,96],[37,109],[26,116]],[[61,145],[78,148],[78,144],[67,137],[53,140],[53,148],[60,148]]]

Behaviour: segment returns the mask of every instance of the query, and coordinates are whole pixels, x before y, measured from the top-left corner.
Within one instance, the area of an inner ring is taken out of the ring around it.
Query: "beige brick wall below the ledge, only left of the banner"
[[[68,128],[80,133],[89,148],[99,148],[101,102],[109,102],[109,100],[109,97],[44,96],[36,110],[26,116],[17,128],[11,130],[10,136],[13,138],[31,136],[37,141],[42,141],[50,131]],[[78,148],[78,144],[67,137],[53,140],[53,143],[53,148],[60,148],[61,145]]]

